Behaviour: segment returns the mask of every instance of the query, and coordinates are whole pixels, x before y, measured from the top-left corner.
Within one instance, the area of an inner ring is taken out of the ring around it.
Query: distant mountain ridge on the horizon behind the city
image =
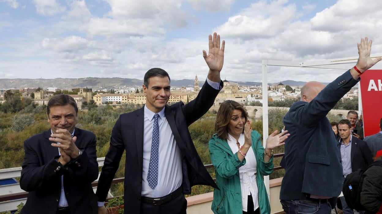
[[[238,82],[230,81],[231,84],[238,83],[239,85],[248,86],[261,86],[261,82]],[[281,81],[284,85],[290,86],[303,86],[306,82],[285,80]],[[204,80],[199,80],[199,87],[202,87]],[[277,83],[268,83],[268,85],[277,85]],[[97,78],[97,77],[86,77],[86,78],[55,78],[55,79],[0,79],[0,89],[8,88],[48,88],[57,87],[65,90],[71,90],[72,88],[93,88],[97,89],[111,89],[111,88],[123,88],[123,87],[141,87],[143,80],[131,79],[131,78]],[[325,85],[329,83],[324,83]],[[171,80],[172,87],[194,87],[194,80],[183,79],[183,80]]]

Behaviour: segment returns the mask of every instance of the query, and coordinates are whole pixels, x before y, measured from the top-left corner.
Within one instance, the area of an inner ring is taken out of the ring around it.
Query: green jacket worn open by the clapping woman
[[[251,136],[251,148],[257,160],[257,199],[259,201],[260,213],[269,214],[269,200],[262,176],[273,172],[273,156],[268,163],[265,163],[263,158],[264,147],[262,146],[259,132],[253,130]],[[239,168],[246,163],[246,160],[244,158],[243,162],[240,162],[237,151],[232,152],[227,140],[220,139],[217,134],[212,136],[208,146],[211,161],[215,167],[216,184],[220,188],[220,190],[214,190],[214,200],[212,201],[211,209],[215,214],[242,214],[243,204]]]

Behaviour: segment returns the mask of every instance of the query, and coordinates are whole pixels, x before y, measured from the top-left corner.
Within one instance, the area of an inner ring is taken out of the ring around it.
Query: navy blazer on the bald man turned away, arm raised
[[[326,115],[357,83],[348,70],[329,83],[311,102],[294,103],[284,116],[285,130],[290,136],[284,145],[285,176],[280,199],[306,199],[309,194],[340,195],[341,154]]]

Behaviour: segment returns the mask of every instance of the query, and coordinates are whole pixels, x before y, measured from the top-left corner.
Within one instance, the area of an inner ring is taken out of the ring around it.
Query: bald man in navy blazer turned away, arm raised
[[[319,82],[306,83],[301,101],[283,118],[290,133],[284,145],[285,176],[280,190],[286,213],[330,213],[328,199],[334,197],[335,202],[341,193],[341,155],[326,115],[358,83],[359,76],[381,60],[371,59],[371,41],[367,40],[362,38],[358,44],[356,66],[326,87]]]

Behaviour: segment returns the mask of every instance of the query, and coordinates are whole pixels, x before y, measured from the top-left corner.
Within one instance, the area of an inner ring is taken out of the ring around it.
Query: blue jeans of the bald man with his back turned
[[[280,200],[280,203],[286,214],[330,214],[332,211],[328,202],[316,203],[305,200]]]

